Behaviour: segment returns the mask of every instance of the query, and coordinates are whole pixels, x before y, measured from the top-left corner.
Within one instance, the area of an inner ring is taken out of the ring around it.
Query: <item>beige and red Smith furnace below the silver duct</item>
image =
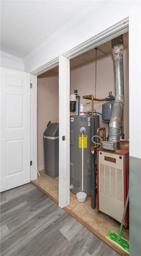
[[[97,149],[97,208],[121,223],[129,188],[129,151]],[[129,224],[129,209],[124,226]]]

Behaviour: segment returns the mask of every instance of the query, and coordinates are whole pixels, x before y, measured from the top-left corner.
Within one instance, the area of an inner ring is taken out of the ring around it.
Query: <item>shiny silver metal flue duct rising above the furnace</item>
[[[112,40],[112,53],[115,63],[115,102],[109,123],[109,141],[117,142],[118,147],[124,105],[123,48],[123,35]]]

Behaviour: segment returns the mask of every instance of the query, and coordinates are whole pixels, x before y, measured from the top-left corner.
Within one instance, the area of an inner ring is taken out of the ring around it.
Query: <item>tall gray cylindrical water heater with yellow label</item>
[[[99,115],[95,115],[95,135],[99,127]],[[82,133],[84,127],[84,189],[87,195],[91,195],[91,138],[90,115],[70,116],[70,185],[75,194],[82,191]]]

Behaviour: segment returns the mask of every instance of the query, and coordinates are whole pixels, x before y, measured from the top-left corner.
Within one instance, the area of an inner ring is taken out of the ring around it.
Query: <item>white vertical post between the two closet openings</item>
[[[70,60],[59,56],[59,206],[70,203]],[[63,140],[65,136],[65,140]]]

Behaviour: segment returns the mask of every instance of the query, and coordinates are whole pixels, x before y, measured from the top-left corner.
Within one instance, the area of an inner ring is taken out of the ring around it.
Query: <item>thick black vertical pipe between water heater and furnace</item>
[[[92,142],[92,137],[95,135],[95,118],[91,117],[91,146],[94,146]],[[96,183],[96,174],[95,174],[95,151],[94,154],[91,153],[91,207],[95,209],[96,207],[96,194],[95,194],[95,183]]]

